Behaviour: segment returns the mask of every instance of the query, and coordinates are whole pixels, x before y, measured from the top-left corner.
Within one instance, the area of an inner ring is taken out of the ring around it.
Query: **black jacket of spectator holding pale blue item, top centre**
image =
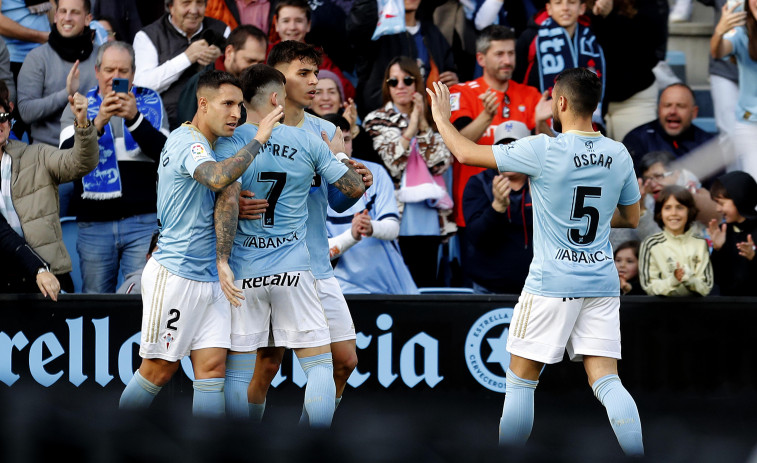
[[[347,36],[357,57],[357,106],[360,117],[379,109],[382,104],[381,88],[384,71],[397,56],[418,58],[418,50],[412,35],[407,32],[385,35],[371,40],[378,22],[378,7],[375,0],[355,0],[347,18]],[[439,73],[456,72],[452,48],[439,29],[431,21],[420,20],[423,42],[429,55],[439,68]]]

